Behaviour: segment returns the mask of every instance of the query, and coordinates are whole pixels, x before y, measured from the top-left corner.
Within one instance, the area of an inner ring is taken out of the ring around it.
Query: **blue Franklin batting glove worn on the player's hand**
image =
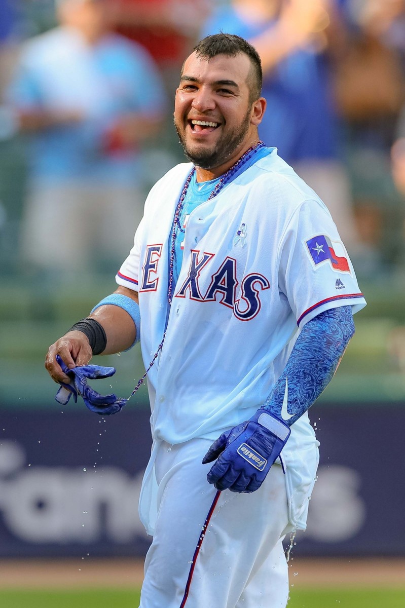
[[[254,492],[260,488],[271,465],[291,433],[289,427],[268,410],[257,410],[252,418],[223,433],[202,460],[216,460],[207,474],[216,489]]]

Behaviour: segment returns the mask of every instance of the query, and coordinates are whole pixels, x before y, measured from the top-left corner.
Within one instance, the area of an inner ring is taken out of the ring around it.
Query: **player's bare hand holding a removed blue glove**
[[[61,370],[56,360],[57,354],[69,370],[77,365],[87,365],[92,358],[92,350],[88,337],[81,331],[68,331],[48,348],[45,358],[45,367],[55,382],[69,384],[71,379]]]

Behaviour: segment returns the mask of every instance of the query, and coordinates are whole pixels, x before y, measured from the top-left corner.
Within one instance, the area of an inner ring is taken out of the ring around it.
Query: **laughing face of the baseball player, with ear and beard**
[[[258,142],[257,125],[266,107],[259,81],[257,66],[244,54],[207,61],[195,51],[185,61],[175,127],[186,156],[197,165],[198,181],[220,176],[246,144]]]

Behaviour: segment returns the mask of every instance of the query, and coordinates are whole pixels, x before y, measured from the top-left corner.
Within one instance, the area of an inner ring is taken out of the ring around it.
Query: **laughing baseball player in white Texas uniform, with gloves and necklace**
[[[196,46],[174,113],[190,162],[152,188],[117,291],[46,358],[60,390],[112,413],[125,400],[86,384],[111,373],[88,362],[140,339],[153,436],[140,608],[286,606],[282,540],[305,529],[318,463],[307,410],[365,306],[327,208],[260,142],[260,90],[242,38]]]

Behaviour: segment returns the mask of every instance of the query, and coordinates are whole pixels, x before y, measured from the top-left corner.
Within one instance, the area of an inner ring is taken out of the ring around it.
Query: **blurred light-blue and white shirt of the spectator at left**
[[[40,181],[139,181],[139,154],[133,148],[114,147],[109,130],[128,112],[156,116],[165,109],[161,78],[140,45],[111,34],[89,46],[68,27],[25,44],[9,100],[18,109],[83,115],[79,122],[30,136],[32,177]]]

